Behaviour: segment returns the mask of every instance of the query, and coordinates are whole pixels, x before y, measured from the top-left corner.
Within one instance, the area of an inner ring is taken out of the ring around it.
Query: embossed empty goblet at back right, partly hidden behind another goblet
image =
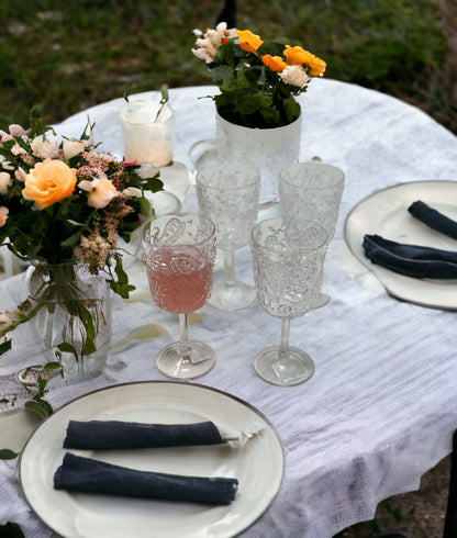
[[[285,218],[311,218],[327,234],[327,246],[335,235],[344,172],[335,166],[310,160],[296,162],[281,170],[279,198]],[[330,295],[321,292],[314,309],[325,306]]]

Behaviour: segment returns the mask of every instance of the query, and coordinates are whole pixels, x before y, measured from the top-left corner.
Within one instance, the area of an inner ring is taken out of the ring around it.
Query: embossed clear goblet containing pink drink
[[[202,341],[189,340],[188,314],[211,295],[214,224],[202,215],[164,215],[143,226],[142,246],[154,302],[179,317],[180,340],[159,351],[157,368],[176,379],[203,376],[213,368],[215,352]]]

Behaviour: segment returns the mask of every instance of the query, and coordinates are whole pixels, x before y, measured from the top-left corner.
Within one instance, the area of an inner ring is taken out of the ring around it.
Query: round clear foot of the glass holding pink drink
[[[181,344],[164,347],[157,356],[157,368],[172,379],[194,379],[208,373],[215,365],[215,351],[198,340],[190,340],[190,360],[181,357]]]

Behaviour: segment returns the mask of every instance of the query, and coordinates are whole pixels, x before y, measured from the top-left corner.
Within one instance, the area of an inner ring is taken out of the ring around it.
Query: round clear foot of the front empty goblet
[[[279,346],[268,347],[260,351],[254,368],[257,374],[268,383],[280,386],[292,386],[304,383],[314,373],[314,362],[311,357],[296,347],[289,348],[289,359],[279,361]]]

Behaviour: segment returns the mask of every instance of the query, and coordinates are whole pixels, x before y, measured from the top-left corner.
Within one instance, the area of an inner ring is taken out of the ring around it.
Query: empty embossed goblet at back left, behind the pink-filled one
[[[256,290],[235,280],[235,250],[249,243],[257,221],[260,173],[249,165],[225,162],[201,168],[196,182],[199,211],[214,223],[224,254],[223,279],[213,284],[209,304],[225,311],[250,306]]]

